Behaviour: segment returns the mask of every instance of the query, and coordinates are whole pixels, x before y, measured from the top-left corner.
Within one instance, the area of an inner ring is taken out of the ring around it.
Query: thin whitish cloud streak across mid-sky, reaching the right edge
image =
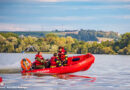
[[[130,19],[130,15],[100,15],[100,16],[65,16],[65,17],[39,17],[40,20],[50,21],[94,21],[100,19]]]

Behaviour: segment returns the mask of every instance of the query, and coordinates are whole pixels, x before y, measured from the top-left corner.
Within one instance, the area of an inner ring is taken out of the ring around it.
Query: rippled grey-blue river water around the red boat
[[[50,58],[52,54],[43,56]],[[35,54],[1,53],[0,77],[3,82],[0,90],[130,90],[129,55],[94,56],[95,63],[88,71],[64,75],[21,75],[17,71],[13,73],[20,69],[20,60],[28,57],[34,61]]]

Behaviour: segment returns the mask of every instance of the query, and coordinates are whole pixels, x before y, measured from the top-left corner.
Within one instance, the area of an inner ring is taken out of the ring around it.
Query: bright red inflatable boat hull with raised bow
[[[68,57],[67,66],[56,68],[34,69],[30,71],[23,70],[21,73],[46,73],[46,74],[64,74],[85,71],[94,63],[95,57],[92,54]]]

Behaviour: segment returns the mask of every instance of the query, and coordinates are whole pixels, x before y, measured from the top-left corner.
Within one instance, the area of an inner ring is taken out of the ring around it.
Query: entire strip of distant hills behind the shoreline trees
[[[0,33],[7,33],[5,31],[1,31]],[[19,36],[33,36],[33,37],[45,37],[48,33],[54,33],[59,37],[67,37],[71,36],[72,38],[76,38],[82,41],[100,41],[99,38],[105,39],[119,39],[119,34],[117,32],[105,32],[105,31],[96,31],[96,30],[65,30],[65,31],[16,31],[12,32]],[[102,39],[103,40],[103,39]],[[104,41],[104,40],[103,40]]]

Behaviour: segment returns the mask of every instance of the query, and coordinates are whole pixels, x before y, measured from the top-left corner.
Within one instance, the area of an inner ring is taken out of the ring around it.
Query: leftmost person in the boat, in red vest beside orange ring
[[[38,54],[35,56],[35,68],[36,69],[42,69],[45,68],[45,60],[42,56],[42,52],[38,52]]]

